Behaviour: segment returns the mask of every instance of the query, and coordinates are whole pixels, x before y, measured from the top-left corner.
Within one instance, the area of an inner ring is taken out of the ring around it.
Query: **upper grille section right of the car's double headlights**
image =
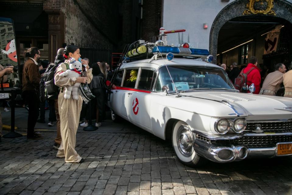
[[[292,132],[292,121],[259,121],[259,122],[247,122],[245,131],[252,131],[256,129],[255,125],[261,125],[261,129],[264,132]]]

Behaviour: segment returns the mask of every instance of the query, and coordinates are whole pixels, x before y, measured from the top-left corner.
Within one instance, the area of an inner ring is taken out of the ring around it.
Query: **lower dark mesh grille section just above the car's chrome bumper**
[[[241,145],[249,148],[274,147],[276,143],[292,142],[292,135],[245,136],[238,139],[212,140],[212,144]]]

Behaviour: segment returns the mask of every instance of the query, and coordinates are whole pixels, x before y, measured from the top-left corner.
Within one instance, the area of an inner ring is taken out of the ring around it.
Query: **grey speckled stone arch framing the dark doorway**
[[[218,34],[221,27],[233,18],[247,16],[243,15],[243,12],[247,9],[246,5],[248,3],[249,0],[236,0],[231,2],[226,5],[214,19],[210,30],[209,52],[215,57],[215,61],[217,54]],[[292,3],[286,0],[274,0],[273,10],[275,11],[275,16],[268,14],[266,14],[266,16],[282,18],[292,23]]]

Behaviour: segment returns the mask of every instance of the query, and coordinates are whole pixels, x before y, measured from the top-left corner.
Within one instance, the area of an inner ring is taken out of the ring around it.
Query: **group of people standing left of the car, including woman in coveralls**
[[[95,117],[96,127],[101,126],[101,121],[105,119],[106,80],[108,72],[111,72],[109,65],[98,61],[89,67],[89,59],[81,59],[80,49],[75,45],[67,45],[65,48],[58,49],[54,63],[47,67],[39,63],[41,53],[36,47],[28,49],[24,56],[26,62],[23,66],[23,99],[29,107],[27,139],[42,139],[40,134],[34,132],[34,127],[37,122],[45,123],[45,107],[49,107],[48,125],[53,126],[55,121],[57,125],[57,135],[53,145],[53,148],[58,150],[57,157],[65,158],[66,162],[82,163],[84,159],[75,150],[77,128],[79,124],[87,127],[90,116]],[[71,58],[81,62],[82,70],[68,68],[72,63]],[[62,73],[68,69],[80,76],[62,76]],[[47,96],[47,101],[40,102],[41,79],[46,72],[52,70],[54,71],[53,81],[56,95]],[[90,100],[91,109],[88,108],[88,104],[84,103],[80,95],[77,99],[72,96],[68,99],[64,96],[65,88],[74,86],[76,83],[89,84],[91,92],[95,96]],[[40,119],[38,119],[39,115]]]

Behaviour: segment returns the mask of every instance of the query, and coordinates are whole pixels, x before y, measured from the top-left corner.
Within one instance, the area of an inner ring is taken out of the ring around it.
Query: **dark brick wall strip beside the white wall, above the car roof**
[[[142,38],[145,41],[153,42],[157,39],[161,27],[161,5],[162,0],[143,1],[142,14]]]

